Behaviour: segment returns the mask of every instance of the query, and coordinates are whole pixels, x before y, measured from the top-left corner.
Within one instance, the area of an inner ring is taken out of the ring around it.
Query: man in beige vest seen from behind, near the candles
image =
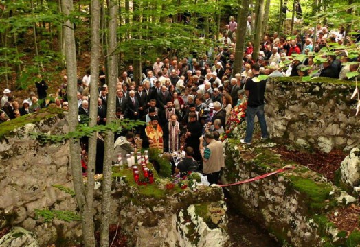
[[[206,148],[201,150],[203,173],[207,176],[207,181],[212,185],[218,183],[221,168],[225,167],[223,143],[216,141],[212,132],[206,132],[203,139],[207,143]]]

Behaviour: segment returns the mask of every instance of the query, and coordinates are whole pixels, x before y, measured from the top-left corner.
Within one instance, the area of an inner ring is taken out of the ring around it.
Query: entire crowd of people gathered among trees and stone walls
[[[313,58],[323,47],[328,47],[328,43],[341,45],[345,37],[344,28],[328,32],[326,27],[318,25],[317,30],[310,28],[303,36],[296,35],[293,40],[279,37],[277,33],[265,36],[256,61],[252,57],[253,43],[249,42],[243,51],[243,69],[233,75],[237,28],[232,18],[223,38],[207,54],[192,58],[157,58],[153,63],[146,61],[143,78],[139,82],[135,82],[132,65],[121,73],[116,86],[116,117],[142,120],[146,125],[116,136],[114,162],[117,153],[126,154],[135,150],[138,136],[142,139],[143,148],[160,153],[184,150],[184,163],[175,172],[201,169],[210,183],[217,183],[224,165],[223,149],[218,139],[227,128],[234,106],[247,102],[247,130],[242,143],[251,144],[255,115],[258,116],[262,139],[269,137],[264,113],[266,80],[254,82],[254,77],[305,76],[317,71],[319,76],[347,80],[346,73],[359,68],[359,64],[355,63],[341,65],[348,61],[360,61],[360,56],[348,58],[345,51],[337,51],[337,56],[324,55],[323,62],[315,63]],[[357,41],[348,38],[347,43],[352,45]],[[309,56],[300,59],[293,54]],[[291,61],[284,62],[286,60]],[[92,85],[99,89],[98,99],[95,99],[98,101],[98,124],[106,124],[109,89],[105,67],[100,69],[99,78],[91,78],[90,71],[78,78],[79,121],[86,121],[89,116],[89,88]],[[10,89],[5,89],[1,98],[3,112],[0,123],[47,106],[67,110],[66,76],[50,102],[44,100],[47,98],[47,84],[41,76],[36,82],[36,89],[38,97],[31,93],[21,107],[12,97]],[[41,99],[40,103],[38,99]]]

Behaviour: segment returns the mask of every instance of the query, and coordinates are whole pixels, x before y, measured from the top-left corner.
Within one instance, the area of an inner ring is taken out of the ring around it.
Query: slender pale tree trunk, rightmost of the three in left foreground
[[[106,124],[115,120],[115,89],[117,84],[117,59],[116,59],[116,29],[117,29],[117,1],[109,1],[109,95],[107,105]],[[102,207],[101,207],[101,232],[100,245],[109,246],[109,218],[111,205],[111,162],[113,160],[114,134],[111,130],[106,131],[105,154],[104,154],[104,179],[102,183]]]

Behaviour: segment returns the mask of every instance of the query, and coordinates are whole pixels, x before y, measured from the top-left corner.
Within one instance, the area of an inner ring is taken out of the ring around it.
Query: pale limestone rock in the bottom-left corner
[[[12,230],[1,237],[1,247],[38,247],[38,242],[34,237],[34,233],[26,231],[21,227],[14,227]]]

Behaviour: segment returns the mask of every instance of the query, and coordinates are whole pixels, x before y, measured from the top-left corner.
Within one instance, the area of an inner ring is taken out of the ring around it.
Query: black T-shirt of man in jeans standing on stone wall
[[[258,76],[259,75],[254,75],[254,77],[258,77]],[[258,107],[264,104],[266,85],[267,85],[267,80],[261,80],[260,82],[253,82],[252,78],[247,79],[245,90],[249,91],[249,99],[247,99],[248,106]]]

